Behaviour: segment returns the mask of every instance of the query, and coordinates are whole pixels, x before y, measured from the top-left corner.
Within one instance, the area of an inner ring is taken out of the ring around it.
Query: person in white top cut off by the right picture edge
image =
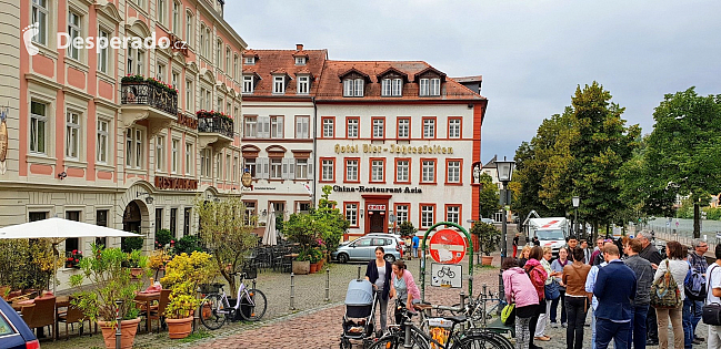
[[[709,277],[703,306],[703,324],[709,325],[709,349],[721,348],[721,244],[715,245],[715,263],[705,271]]]

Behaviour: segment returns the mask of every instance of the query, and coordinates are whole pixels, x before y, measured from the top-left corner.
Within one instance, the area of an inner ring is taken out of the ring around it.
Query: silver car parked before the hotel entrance
[[[375,247],[381,246],[385,250],[385,260],[393,263],[401,258],[401,245],[398,238],[390,234],[371,234],[360,237],[353,242],[347,242],[338,246],[331,253],[331,258],[339,263],[349,260],[368,261],[375,258]]]

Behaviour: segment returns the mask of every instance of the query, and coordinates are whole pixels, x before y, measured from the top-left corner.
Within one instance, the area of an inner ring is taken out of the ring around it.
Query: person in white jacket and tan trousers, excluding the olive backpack
[[[685,280],[685,275],[689,273],[689,264],[683,260],[687,257],[688,252],[687,247],[681,245],[679,242],[668,242],[665,244],[665,254],[667,259],[661,260],[659,268],[655,270],[653,280],[658,280],[663,277],[667,270],[671,271],[673,280],[679,286],[679,291],[681,294],[681,301],[675,308],[672,309],[661,309],[657,308],[658,315],[658,325],[659,325],[659,349],[669,348],[669,318],[671,318],[671,325],[673,326],[673,348],[682,349],[683,348],[683,326],[682,326],[682,315],[683,315],[683,281]]]

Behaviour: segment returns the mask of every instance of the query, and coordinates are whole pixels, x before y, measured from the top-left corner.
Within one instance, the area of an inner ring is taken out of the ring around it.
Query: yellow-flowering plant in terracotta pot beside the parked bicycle
[[[201,284],[211,283],[218,275],[212,256],[202,252],[180,254],[168,261],[166,276],[160,284],[171,289],[170,302],[166,308],[166,324],[172,339],[186,338],[190,335],[193,311],[200,301],[196,290]]]

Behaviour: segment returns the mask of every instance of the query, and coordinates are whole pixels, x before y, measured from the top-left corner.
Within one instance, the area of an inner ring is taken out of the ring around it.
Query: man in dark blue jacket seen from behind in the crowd
[[[603,246],[603,258],[609,265],[599,270],[593,287],[593,295],[599,300],[595,309],[595,348],[607,349],[613,339],[613,348],[628,349],[635,274],[619,259],[619,248],[615,245]]]

